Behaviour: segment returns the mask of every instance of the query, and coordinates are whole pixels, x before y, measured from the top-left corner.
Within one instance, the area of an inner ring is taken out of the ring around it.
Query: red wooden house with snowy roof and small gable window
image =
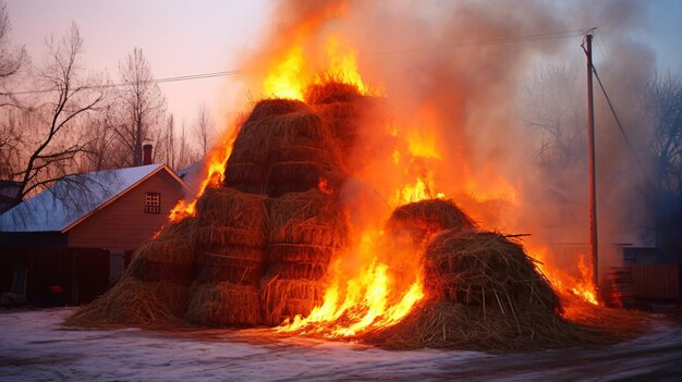
[[[0,215],[0,292],[26,270],[26,298],[44,303],[50,286],[66,303],[106,291],[125,259],[167,223],[187,188],[165,164],[68,176]]]

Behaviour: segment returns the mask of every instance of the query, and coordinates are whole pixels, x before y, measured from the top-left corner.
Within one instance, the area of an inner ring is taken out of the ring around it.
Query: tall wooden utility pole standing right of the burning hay
[[[594,37],[593,29],[585,34],[583,41],[583,50],[587,56],[587,134],[589,135],[589,257],[592,259],[593,282],[595,292],[599,287],[599,256],[597,243],[597,180],[595,164],[595,108],[592,94],[592,39]],[[598,296],[598,293],[597,293]],[[598,298],[598,297],[597,297]]]

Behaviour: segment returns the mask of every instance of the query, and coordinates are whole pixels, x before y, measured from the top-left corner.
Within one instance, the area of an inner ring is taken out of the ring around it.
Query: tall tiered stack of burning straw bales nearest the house
[[[362,97],[342,84],[313,86],[308,97],[326,113],[345,112],[324,122],[301,101],[258,102],[224,185],[204,193],[196,218],[143,245],[121,281],[66,324],[253,326],[309,313],[345,246],[346,215],[333,190],[348,176],[340,152],[355,124],[341,120]]]

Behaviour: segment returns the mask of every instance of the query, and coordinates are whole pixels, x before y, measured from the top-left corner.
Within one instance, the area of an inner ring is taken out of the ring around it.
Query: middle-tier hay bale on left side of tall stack
[[[219,246],[264,247],[267,197],[229,187],[208,188],[196,204],[196,239],[204,248]]]

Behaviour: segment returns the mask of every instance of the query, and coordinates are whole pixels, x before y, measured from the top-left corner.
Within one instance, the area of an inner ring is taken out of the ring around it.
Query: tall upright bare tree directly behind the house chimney
[[[142,164],[142,146],[146,140],[158,138],[159,125],[166,113],[166,98],[154,82],[149,62],[135,48],[125,62],[119,64],[124,84],[118,98],[123,107],[123,121],[117,126],[117,135],[131,155],[129,164]]]

